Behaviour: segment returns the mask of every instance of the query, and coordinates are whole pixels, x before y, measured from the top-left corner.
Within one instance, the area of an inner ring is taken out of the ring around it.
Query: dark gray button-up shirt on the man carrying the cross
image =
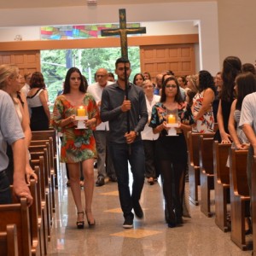
[[[127,112],[121,110],[124,99],[125,90],[119,88],[118,84],[108,85],[102,92],[101,119],[109,122],[110,142],[113,143],[126,143]],[[130,131],[143,131],[148,121],[148,111],[142,88],[129,83],[128,99],[131,101]],[[141,140],[141,136],[136,137],[137,140]]]

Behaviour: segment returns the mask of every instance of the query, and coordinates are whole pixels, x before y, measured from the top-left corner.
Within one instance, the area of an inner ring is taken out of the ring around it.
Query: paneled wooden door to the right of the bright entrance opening
[[[141,70],[152,79],[158,73],[172,70],[175,76],[195,73],[194,44],[164,44],[140,46]]]

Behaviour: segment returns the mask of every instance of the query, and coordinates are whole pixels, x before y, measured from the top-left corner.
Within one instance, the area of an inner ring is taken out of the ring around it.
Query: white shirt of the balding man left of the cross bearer
[[[113,82],[108,81],[107,85],[113,84]],[[99,83],[90,84],[87,88],[87,92],[90,93],[96,103],[102,101],[102,91],[104,90],[104,87],[102,87]],[[108,122],[102,122],[100,125],[96,126],[96,131],[109,131]]]

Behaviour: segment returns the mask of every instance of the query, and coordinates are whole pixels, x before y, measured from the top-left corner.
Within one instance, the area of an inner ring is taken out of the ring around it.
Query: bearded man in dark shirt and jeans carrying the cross
[[[119,201],[124,212],[123,227],[133,227],[134,215],[143,218],[139,200],[143,190],[145,159],[140,131],[148,121],[148,112],[143,90],[128,83],[128,99],[125,97],[125,67],[127,80],[131,74],[130,61],[119,58],[115,62],[118,80],[102,92],[101,118],[109,122],[110,152],[118,178]],[[127,112],[130,117],[130,132],[127,132]],[[133,175],[132,192],[129,189],[128,161]]]

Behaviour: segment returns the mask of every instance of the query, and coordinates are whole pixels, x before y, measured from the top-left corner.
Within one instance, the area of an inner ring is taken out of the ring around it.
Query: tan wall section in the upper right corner
[[[242,63],[256,60],[256,1],[218,0],[218,34],[221,64],[236,55]]]

